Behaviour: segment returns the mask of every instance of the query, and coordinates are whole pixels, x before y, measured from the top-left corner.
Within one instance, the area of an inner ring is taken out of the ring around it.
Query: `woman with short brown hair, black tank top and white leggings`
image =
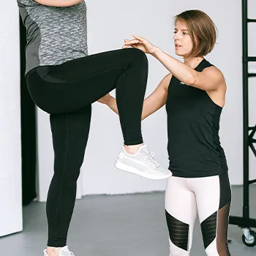
[[[125,40],[151,54],[170,72],[144,100],[142,119],[165,105],[169,170],[165,214],[170,236],[170,256],[187,256],[197,214],[208,256],[228,256],[227,226],[231,189],[225,153],[219,142],[219,119],[225,105],[226,83],[222,72],[204,56],[213,50],[217,29],[200,10],[175,18],[176,55],[164,53],[143,37]],[[118,113],[116,99],[99,100]]]

